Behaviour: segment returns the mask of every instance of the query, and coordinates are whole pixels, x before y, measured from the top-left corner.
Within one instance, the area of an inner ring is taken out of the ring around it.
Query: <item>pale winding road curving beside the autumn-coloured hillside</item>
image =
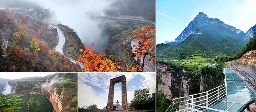
[[[53,28],[57,29],[57,33],[58,33],[58,37],[59,37],[58,44],[57,44],[55,50],[60,52],[60,54],[64,55],[63,46],[65,44],[65,36],[64,36],[63,32],[60,30],[60,28],[58,28],[57,26],[53,26]],[[69,57],[67,57],[67,58],[69,58]],[[69,58],[69,60],[71,62],[73,62],[74,64],[79,64],[81,68],[84,68],[84,65],[81,62],[78,62],[72,58]]]

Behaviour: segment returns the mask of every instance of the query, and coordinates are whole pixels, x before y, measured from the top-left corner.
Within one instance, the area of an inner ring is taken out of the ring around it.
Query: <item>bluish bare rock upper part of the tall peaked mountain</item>
[[[227,25],[217,18],[208,18],[206,14],[204,14],[203,12],[199,12],[196,18],[194,18],[182,31],[182,33],[175,39],[175,42],[182,42],[190,34],[202,34],[202,32],[204,32],[204,30],[206,30],[207,28],[213,28],[216,26],[225,28],[226,30],[231,30],[231,32],[239,34],[239,36],[241,36],[242,38],[245,37],[244,32],[242,32],[241,30],[236,29],[233,26]]]

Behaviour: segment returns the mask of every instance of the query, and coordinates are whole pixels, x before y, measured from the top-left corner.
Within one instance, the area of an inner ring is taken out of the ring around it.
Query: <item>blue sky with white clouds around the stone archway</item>
[[[126,76],[127,100],[133,99],[134,91],[149,88],[150,93],[156,91],[155,73],[79,73],[78,74],[78,106],[96,104],[102,109],[107,105],[110,79]],[[121,101],[121,83],[115,84],[114,102]],[[121,103],[122,104],[122,103]]]

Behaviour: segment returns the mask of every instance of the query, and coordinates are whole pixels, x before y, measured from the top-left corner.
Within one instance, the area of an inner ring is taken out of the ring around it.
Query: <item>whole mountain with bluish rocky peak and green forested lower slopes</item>
[[[248,39],[241,30],[199,12],[175,42],[167,43],[173,46],[158,44],[158,57],[190,55],[194,52],[232,55],[244,48]]]

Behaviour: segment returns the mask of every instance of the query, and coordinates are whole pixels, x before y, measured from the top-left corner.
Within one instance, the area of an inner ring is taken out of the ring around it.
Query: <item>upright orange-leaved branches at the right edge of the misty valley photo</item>
[[[128,53],[134,60],[135,65],[130,70],[130,66],[126,65],[126,70],[130,72],[144,72],[144,66],[150,67],[150,61],[155,61],[155,40],[156,37],[153,35],[153,32],[156,32],[156,29],[152,29],[152,26],[148,26],[147,28],[142,27],[141,31],[134,30],[133,36],[129,39],[132,42],[137,42],[134,44],[132,48],[126,46],[124,51]],[[152,36],[153,35],[153,36]],[[152,36],[152,37],[151,37]],[[123,44],[127,44],[127,41],[123,41]],[[148,58],[146,58],[148,56]],[[142,61],[141,61],[142,60]]]

